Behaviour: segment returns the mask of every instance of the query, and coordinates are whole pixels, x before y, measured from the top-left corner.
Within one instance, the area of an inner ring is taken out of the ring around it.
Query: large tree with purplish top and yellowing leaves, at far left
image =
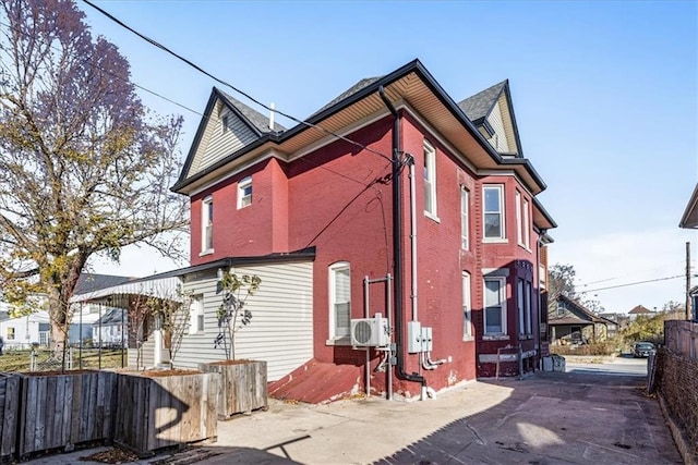
[[[145,243],[181,258],[186,199],[168,187],[182,120],[148,117],[72,0],[0,0],[0,292],[45,295],[61,348],[94,254]]]

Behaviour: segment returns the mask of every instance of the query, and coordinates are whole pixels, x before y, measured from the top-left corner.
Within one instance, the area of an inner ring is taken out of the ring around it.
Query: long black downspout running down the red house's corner
[[[393,259],[395,262],[395,334],[396,345],[395,353],[397,358],[396,375],[399,379],[421,383],[421,399],[424,400],[426,394],[426,379],[416,372],[407,374],[405,371],[405,356],[402,351],[402,187],[400,184],[400,115],[385,95],[383,86],[378,87],[381,99],[393,114]]]

